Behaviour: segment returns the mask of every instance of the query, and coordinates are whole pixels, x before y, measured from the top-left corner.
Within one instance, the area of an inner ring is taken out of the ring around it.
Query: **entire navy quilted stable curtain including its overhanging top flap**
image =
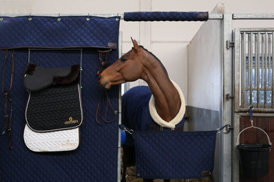
[[[95,113],[103,89],[97,83],[97,49],[112,49],[110,63],[118,59],[120,17],[22,16],[0,19],[0,81],[2,86],[5,52],[9,49],[5,89],[10,88],[12,49],[15,50],[14,78],[10,93],[13,102],[12,145],[8,132],[0,136],[0,181],[117,181],[118,115],[112,123],[99,125]],[[29,55],[29,48],[32,48]],[[35,49],[33,49],[35,48]],[[36,49],[41,48],[41,49]],[[82,101],[84,120],[81,144],[75,151],[34,153],[25,147],[25,105],[23,86],[29,62],[42,67],[79,64],[82,48]],[[115,110],[119,107],[119,87],[109,91]],[[0,95],[0,128],[4,125],[4,96]],[[108,112],[108,120],[113,117]]]

